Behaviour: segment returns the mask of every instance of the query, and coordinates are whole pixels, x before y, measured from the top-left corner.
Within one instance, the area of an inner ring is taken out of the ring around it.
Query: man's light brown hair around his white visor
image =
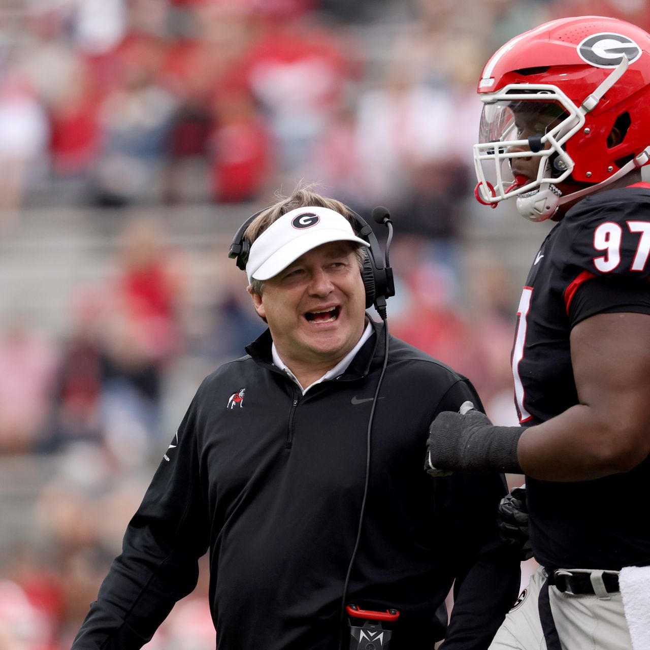
[[[311,205],[315,207],[327,207],[339,214],[343,214],[350,224],[352,224],[353,228],[357,225],[354,213],[347,205],[341,203],[341,201],[337,201],[336,199],[321,196],[317,192],[314,192],[311,187],[313,186],[307,185],[306,187],[298,188],[291,196],[280,196],[277,203],[266,208],[263,212],[259,213],[252,222],[250,222],[250,225],[244,232],[244,239],[248,239],[248,242],[252,245],[255,239],[257,239],[266,228],[283,216],[283,214],[287,214],[298,207],[308,207]],[[363,252],[361,246],[357,246],[356,256],[359,269],[363,269],[365,254],[366,253]],[[263,281],[256,280],[255,278],[252,279],[250,290],[253,293],[261,296],[263,287]]]

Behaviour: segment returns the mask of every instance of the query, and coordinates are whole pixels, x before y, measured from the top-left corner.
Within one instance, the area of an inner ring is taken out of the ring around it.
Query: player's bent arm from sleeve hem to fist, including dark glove
[[[430,471],[504,471],[579,481],[629,471],[650,453],[650,314],[600,313],[571,332],[580,403],[543,424],[495,426],[477,410],[429,429]]]

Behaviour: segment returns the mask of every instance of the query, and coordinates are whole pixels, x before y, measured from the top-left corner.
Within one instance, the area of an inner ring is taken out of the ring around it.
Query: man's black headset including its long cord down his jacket
[[[305,206],[308,207],[308,206]],[[250,216],[246,221],[239,227],[235,237],[233,237],[233,242],[230,244],[228,250],[228,257],[231,259],[237,260],[237,266],[242,270],[246,271],[246,263],[248,262],[248,254],[250,253],[251,243],[244,233],[246,228],[250,223],[255,219],[259,214],[268,210],[268,207],[256,212]],[[365,482],[363,486],[363,499],[361,500],[361,510],[359,511],[359,523],[357,524],[357,535],[354,541],[354,549],[352,550],[352,556],[350,557],[350,562],[348,563],[348,569],[345,576],[345,582],[343,584],[343,594],[341,596],[341,614],[340,614],[340,625],[341,635],[339,636],[339,650],[342,650],[343,646],[343,622],[346,612],[346,597],[348,593],[348,584],[350,582],[350,575],[352,574],[352,566],[354,565],[354,560],[357,556],[357,551],[359,549],[359,542],[361,541],[361,529],[363,528],[363,516],[365,515],[365,506],[366,500],[368,497],[368,486],[370,482],[370,441],[372,439],[372,422],[374,421],[374,411],[377,406],[377,400],[379,396],[379,391],[382,387],[383,376],[386,372],[386,366],[388,365],[388,321],[386,315],[386,299],[395,295],[395,281],[393,279],[393,269],[389,264],[388,253],[391,248],[391,241],[393,240],[393,223],[391,222],[391,215],[387,208],[382,205],[378,205],[372,210],[372,218],[378,223],[386,226],[388,228],[388,239],[386,240],[386,252],[385,258],[382,259],[382,251],[380,249],[377,238],[372,231],[372,228],[353,210],[350,208],[347,209],[348,213],[352,215],[355,220],[355,230],[357,237],[361,239],[366,239],[370,246],[369,248],[364,247],[365,257],[363,259],[363,268],[361,269],[361,278],[363,279],[363,287],[365,288],[366,296],[366,309],[372,307],[377,310],[377,313],[383,320],[383,334],[384,334],[384,343],[383,343],[383,365],[382,371],[377,382],[377,387],[374,391],[374,396],[372,398],[372,406],[370,407],[370,415],[368,418],[368,428],[366,432],[366,462],[365,462]],[[370,644],[372,645],[372,644]],[[374,647],[374,645],[372,646]]]

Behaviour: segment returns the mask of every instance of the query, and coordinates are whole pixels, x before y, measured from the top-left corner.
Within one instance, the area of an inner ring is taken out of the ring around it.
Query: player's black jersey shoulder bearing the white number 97
[[[650,189],[626,187],[587,196],[562,222],[567,263],[594,276],[650,276]]]

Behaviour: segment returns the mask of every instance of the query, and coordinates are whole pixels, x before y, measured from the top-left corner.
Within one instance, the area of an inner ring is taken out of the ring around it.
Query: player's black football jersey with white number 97
[[[530,267],[517,311],[512,370],[523,426],[578,404],[569,346],[573,326],[597,313],[650,314],[649,258],[648,183],[588,196],[551,230]],[[650,564],[648,459],[629,473],[598,480],[526,478],[526,493],[540,564],[588,569]]]

